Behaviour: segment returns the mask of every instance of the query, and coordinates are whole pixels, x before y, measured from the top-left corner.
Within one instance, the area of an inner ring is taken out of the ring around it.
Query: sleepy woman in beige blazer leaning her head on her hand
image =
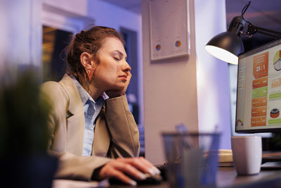
[[[119,33],[98,26],[81,31],[67,47],[67,66],[60,82],[41,85],[53,104],[49,151],[60,156],[56,177],[136,184],[128,175],[159,174],[137,158],[138,127],[124,95],[131,67]]]

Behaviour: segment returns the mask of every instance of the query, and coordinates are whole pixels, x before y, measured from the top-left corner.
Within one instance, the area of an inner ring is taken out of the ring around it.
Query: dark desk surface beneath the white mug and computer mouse
[[[130,186],[111,185],[119,188],[129,188]],[[169,188],[168,182],[159,185],[139,185],[145,188]],[[281,187],[281,170],[261,170],[259,175],[237,176],[235,168],[220,167],[218,168],[217,187]]]

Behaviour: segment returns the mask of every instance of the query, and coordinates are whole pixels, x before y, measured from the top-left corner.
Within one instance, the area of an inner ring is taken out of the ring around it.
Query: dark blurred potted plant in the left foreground
[[[32,70],[0,76],[0,161],[4,187],[51,187],[57,159],[46,153],[50,106]],[[4,168],[3,168],[4,167]]]

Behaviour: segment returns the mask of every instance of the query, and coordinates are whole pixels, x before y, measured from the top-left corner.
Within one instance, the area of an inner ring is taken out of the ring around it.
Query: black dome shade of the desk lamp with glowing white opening
[[[227,31],[213,37],[205,49],[216,58],[237,65],[237,56],[244,51],[244,46],[237,34]]]

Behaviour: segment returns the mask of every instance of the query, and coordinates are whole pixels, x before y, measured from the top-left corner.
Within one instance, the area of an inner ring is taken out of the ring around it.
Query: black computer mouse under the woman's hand
[[[162,182],[162,176],[161,175],[150,175],[145,174],[146,179],[145,180],[136,180],[136,178],[131,177],[128,175],[133,181],[137,182],[137,184],[161,184]],[[110,184],[125,184],[121,180],[118,180],[116,178],[110,178],[109,180]]]

